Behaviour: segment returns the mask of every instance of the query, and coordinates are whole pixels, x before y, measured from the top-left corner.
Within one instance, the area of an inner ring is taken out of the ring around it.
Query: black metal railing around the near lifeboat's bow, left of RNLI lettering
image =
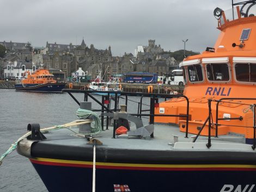
[[[125,99],[125,104],[126,104],[126,111],[127,111],[127,102],[131,101],[128,99],[128,96],[139,96],[141,97],[140,102],[138,102],[138,110],[137,113],[132,113],[130,115],[133,116],[138,116],[138,117],[143,117],[143,116],[149,116],[149,123],[154,124],[154,117],[155,116],[170,116],[170,117],[185,117],[186,118],[186,134],[185,137],[187,138],[188,136],[188,113],[189,113],[189,101],[188,98],[185,95],[170,95],[170,94],[147,94],[147,93],[142,93],[142,92],[123,92],[123,91],[96,91],[96,90],[72,90],[72,89],[63,89],[63,92],[68,92],[68,94],[75,100],[75,102],[80,105],[80,102],[75,98],[72,93],[83,93],[84,94],[84,101],[88,101],[88,97],[92,98],[97,104],[101,106],[101,109],[93,109],[93,111],[96,112],[101,112],[101,127],[103,129],[103,120],[104,116],[103,113],[114,113],[118,112],[117,108],[117,103],[120,98]],[[93,94],[106,94],[106,95],[101,95],[101,101],[99,101],[97,98],[93,96]],[[109,105],[109,100],[111,99],[111,96],[113,96],[114,100],[114,109],[110,108]],[[122,97],[124,96],[124,97]],[[142,110],[142,105],[143,103],[143,98],[144,97],[150,97],[150,104],[149,104],[149,109]],[[187,102],[187,108],[186,108],[186,114],[182,115],[166,115],[166,114],[155,114],[155,107],[159,106],[159,98],[164,98],[166,100],[167,98],[173,98],[173,97],[183,97],[185,98]],[[149,114],[144,114],[142,112],[149,112]],[[128,113],[129,114],[129,113]],[[108,129],[108,121],[109,117],[107,116],[107,122],[106,122],[106,129]],[[113,138],[115,138],[115,129],[117,125],[117,120],[114,120],[113,123]],[[154,137],[154,133],[151,134],[151,137]]]

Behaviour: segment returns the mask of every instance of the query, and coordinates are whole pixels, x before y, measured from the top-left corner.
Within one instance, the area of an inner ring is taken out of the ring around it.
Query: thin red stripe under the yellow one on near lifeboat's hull
[[[54,166],[70,166],[77,168],[93,168],[93,165],[86,164],[72,164],[72,163],[56,163],[43,162],[30,159],[32,163],[40,165],[54,165]],[[145,171],[256,171],[256,168],[152,168],[152,167],[137,167],[137,166],[107,166],[96,165],[97,169],[120,169],[120,170],[145,170]]]

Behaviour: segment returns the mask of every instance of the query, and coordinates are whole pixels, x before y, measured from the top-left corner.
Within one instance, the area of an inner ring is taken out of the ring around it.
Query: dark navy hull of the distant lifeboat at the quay
[[[36,92],[62,92],[66,83],[47,83],[47,84],[15,84],[18,91]]]

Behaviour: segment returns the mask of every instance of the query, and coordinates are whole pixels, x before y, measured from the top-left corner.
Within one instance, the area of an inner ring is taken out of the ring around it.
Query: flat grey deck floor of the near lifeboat
[[[95,136],[96,139],[100,140],[103,145],[98,147],[109,147],[109,148],[123,148],[123,149],[135,149],[135,150],[173,150],[174,147],[174,136],[178,136],[179,143],[191,143],[194,134],[188,134],[188,138],[185,138],[185,133],[179,131],[179,127],[175,125],[155,125],[154,138],[150,137],[128,137],[126,134],[116,135],[113,138],[113,127],[109,126],[108,130],[102,131],[100,134]],[[135,127],[131,127],[131,130],[135,130]],[[78,128],[74,128],[74,131],[78,132]],[[66,145],[66,146],[80,146],[80,147],[91,147],[86,145],[88,141],[85,138],[78,137],[68,129],[60,129],[58,131],[51,131],[44,133],[47,138],[44,143],[53,145]],[[207,143],[208,137],[199,136],[196,143]],[[245,144],[245,138],[241,135],[228,134],[220,135],[218,138],[211,137],[212,143],[220,144]],[[204,144],[205,146],[205,144]],[[192,147],[193,148],[193,147]]]

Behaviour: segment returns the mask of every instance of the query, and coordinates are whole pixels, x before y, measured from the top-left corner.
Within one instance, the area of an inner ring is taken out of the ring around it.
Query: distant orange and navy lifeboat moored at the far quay
[[[62,92],[66,83],[57,83],[53,75],[46,69],[36,70],[34,73],[27,73],[27,78],[22,79],[21,83],[15,84],[18,91],[35,91],[35,92]]]

